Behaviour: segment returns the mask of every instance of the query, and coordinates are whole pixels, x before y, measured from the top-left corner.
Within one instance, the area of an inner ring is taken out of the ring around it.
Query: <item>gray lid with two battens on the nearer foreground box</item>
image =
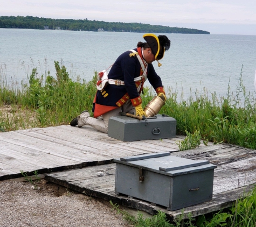
[[[119,158],[114,159],[114,162],[169,176],[195,173],[217,167],[206,160],[181,158],[170,155],[169,152]]]

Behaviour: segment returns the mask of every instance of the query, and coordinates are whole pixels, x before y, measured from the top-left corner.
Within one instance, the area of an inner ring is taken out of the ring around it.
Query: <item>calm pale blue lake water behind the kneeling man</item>
[[[161,67],[154,62],[166,88],[178,96],[189,97],[197,90],[209,97],[226,96],[230,83],[236,93],[243,65],[243,84],[254,91],[256,69],[256,36],[224,34],[165,34],[171,47]],[[39,75],[50,70],[54,61],[62,62],[70,76],[89,81],[94,70],[108,68],[124,51],[144,41],[142,33],[82,32],[57,30],[0,29],[0,76],[10,83],[27,80],[32,68]],[[229,82],[230,81],[230,82]],[[147,82],[146,86],[150,86]]]

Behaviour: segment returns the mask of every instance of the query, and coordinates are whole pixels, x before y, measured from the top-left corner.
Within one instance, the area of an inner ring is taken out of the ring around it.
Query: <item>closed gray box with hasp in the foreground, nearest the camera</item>
[[[216,165],[169,152],[114,159],[115,193],[177,210],[212,199]]]

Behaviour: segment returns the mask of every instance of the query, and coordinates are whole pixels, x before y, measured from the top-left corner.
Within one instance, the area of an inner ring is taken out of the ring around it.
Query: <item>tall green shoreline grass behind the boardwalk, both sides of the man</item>
[[[56,75],[39,75],[33,68],[29,81],[19,89],[8,86],[4,70],[0,70],[0,107],[11,106],[8,113],[0,113],[1,131],[68,124],[81,111],[91,111],[96,72],[92,81],[79,77],[74,80],[64,65],[54,63]],[[226,97],[217,97],[216,93],[208,97],[204,91],[178,101],[178,94],[165,88],[168,99],[160,113],[177,120],[176,134],[256,149],[256,100],[253,94],[246,93],[242,74],[236,94],[230,93],[228,84]],[[144,88],[144,107],[154,95],[151,88]],[[22,115],[24,111],[26,114]]]

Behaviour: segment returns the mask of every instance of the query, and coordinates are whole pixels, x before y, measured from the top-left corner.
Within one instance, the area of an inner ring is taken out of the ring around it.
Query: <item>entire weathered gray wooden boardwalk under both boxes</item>
[[[188,159],[209,160],[215,169],[213,198],[209,202],[184,208],[184,214],[206,214],[232,206],[256,183],[256,151],[230,144],[219,144],[178,151],[173,139],[123,142],[90,127],[68,125],[43,129],[0,133],[0,180],[20,177],[20,170],[38,170],[45,179],[87,195],[112,200],[130,208],[156,214],[164,211],[171,217],[182,210],[168,211],[146,201],[115,195],[113,158],[137,154],[171,152]]]

